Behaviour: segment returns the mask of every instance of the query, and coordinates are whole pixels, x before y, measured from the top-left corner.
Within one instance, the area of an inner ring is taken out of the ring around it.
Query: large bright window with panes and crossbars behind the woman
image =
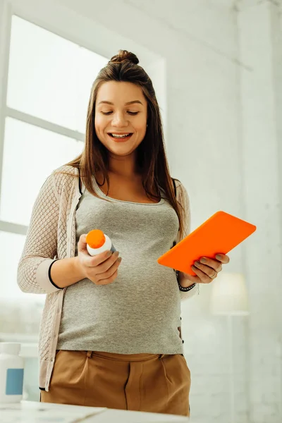
[[[93,51],[12,16],[0,195],[0,297],[21,293],[16,271],[32,206],[55,168],[82,152],[92,83],[107,61]]]

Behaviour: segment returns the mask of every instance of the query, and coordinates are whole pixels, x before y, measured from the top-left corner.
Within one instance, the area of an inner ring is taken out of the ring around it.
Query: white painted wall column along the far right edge
[[[281,422],[281,22],[277,2],[242,2],[238,14],[246,217],[257,233],[247,244],[250,292],[250,418]]]

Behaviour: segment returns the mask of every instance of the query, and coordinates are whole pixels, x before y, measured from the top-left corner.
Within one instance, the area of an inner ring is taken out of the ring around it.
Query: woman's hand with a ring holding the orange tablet
[[[199,262],[195,262],[192,271],[196,276],[183,274],[185,281],[192,283],[211,283],[222,270],[222,264],[228,264],[230,259],[227,255],[217,254],[216,259],[201,257]],[[181,283],[182,285],[182,283]]]

